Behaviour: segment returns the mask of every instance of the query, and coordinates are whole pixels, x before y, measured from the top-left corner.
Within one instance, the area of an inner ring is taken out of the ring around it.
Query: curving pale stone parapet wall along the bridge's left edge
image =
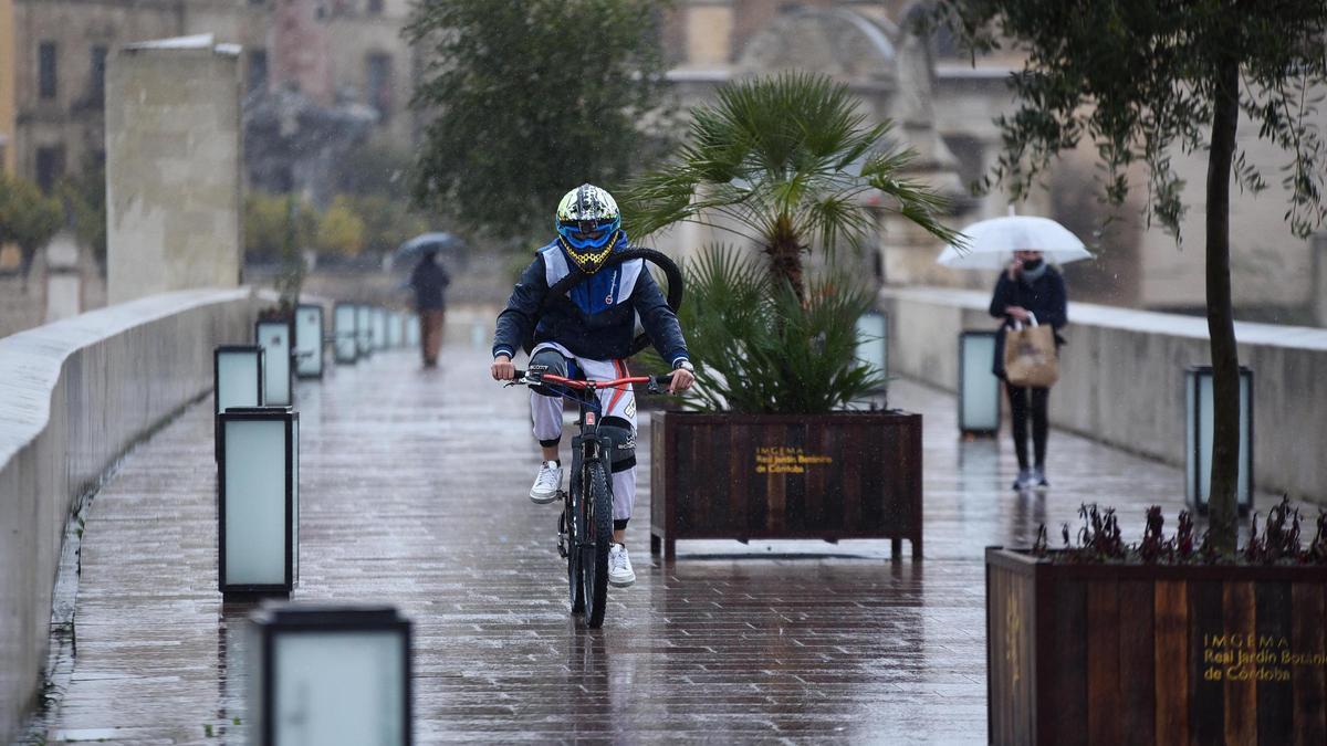
[[[264,303],[173,292],[0,338],[0,742],[37,694],[72,507],[211,389],[212,348],[249,340]]]

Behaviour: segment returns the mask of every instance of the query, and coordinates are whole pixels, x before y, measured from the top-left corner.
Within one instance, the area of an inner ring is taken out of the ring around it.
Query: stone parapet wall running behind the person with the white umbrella
[[[955,390],[958,333],[998,328],[989,305],[985,292],[882,289],[890,373]],[[1082,303],[1068,316],[1051,423],[1182,466],[1184,370],[1210,364],[1206,320]],[[1327,503],[1327,329],[1237,323],[1235,337],[1254,372],[1258,488]]]

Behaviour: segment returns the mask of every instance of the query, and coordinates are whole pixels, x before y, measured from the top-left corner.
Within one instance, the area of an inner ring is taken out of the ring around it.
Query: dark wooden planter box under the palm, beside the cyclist
[[[921,558],[921,415],[654,415],[650,551],[678,539],[904,539]]]

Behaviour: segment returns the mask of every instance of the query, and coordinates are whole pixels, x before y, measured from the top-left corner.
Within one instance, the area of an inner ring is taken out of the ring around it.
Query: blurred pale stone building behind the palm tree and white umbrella
[[[722,82],[780,69],[821,72],[848,84],[876,118],[892,118],[922,155],[928,178],[955,199],[950,223],[962,227],[1005,215],[1009,200],[966,188],[999,155],[994,118],[1015,101],[1006,78],[1022,68],[1013,53],[975,65],[943,36],[925,42],[909,33],[917,0],[679,0],[666,21],[664,42],[671,78],[683,105],[706,101]],[[1327,112],[1319,112],[1327,127]],[[1327,325],[1327,240],[1290,235],[1282,215],[1286,192],[1278,167],[1286,158],[1257,138],[1243,121],[1239,146],[1263,167],[1273,186],[1253,196],[1233,192],[1231,251],[1237,315],[1251,320]],[[1202,154],[1177,158],[1190,206],[1184,248],[1139,215],[1144,174],[1136,174],[1131,204],[1108,226],[1097,260],[1068,265],[1075,297],[1116,305],[1194,311],[1205,297],[1202,261]],[[1062,158],[1047,188],[1014,206],[1020,214],[1060,220],[1080,238],[1105,220],[1097,200],[1095,151],[1084,146]],[[707,238],[679,230],[667,240],[698,246]],[[955,272],[933,263],[941,247],[906,224],[882,223],[878,236],[884,280],[987,288],[990,272]]]

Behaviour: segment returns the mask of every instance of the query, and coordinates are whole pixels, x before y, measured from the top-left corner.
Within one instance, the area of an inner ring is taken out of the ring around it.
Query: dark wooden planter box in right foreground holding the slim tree
[[[991,743],[1327,743],[1323,567],[986,550]]]

